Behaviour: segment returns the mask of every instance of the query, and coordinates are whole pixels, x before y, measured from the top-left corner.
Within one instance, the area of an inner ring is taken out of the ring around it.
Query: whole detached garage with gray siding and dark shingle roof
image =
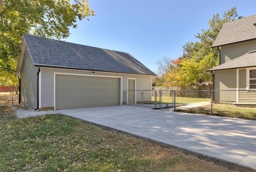
[[[126,90],[151,90],[155,75],[128,53],[27,34],[16,72],[21,104],[36,110],[138,102]]]

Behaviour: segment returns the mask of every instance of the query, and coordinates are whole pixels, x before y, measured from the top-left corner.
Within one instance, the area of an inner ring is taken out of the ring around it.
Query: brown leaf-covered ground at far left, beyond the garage
[[[19,95],[10,92],[0,92],[0,106],[18,105]]]

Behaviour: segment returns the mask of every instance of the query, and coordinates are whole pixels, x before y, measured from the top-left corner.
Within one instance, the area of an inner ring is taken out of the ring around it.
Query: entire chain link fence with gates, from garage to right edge
[[[127,90],[126,96],[126,104],[256,119],[256,90]]]

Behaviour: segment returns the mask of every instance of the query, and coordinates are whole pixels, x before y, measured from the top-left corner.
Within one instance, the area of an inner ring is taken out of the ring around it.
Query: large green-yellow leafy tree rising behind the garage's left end
[[[70,35],[70,27],[77,27],[76,20],[94,15],[87,0],[0,1],[1,74],[15,75],[12,63],[17,63],[23,33],[60,40]]]

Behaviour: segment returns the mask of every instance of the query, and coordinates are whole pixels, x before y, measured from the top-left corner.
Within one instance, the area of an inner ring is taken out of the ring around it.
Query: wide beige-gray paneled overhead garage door
[[[120,78],[56,74],[56,109],[120,105]]]

